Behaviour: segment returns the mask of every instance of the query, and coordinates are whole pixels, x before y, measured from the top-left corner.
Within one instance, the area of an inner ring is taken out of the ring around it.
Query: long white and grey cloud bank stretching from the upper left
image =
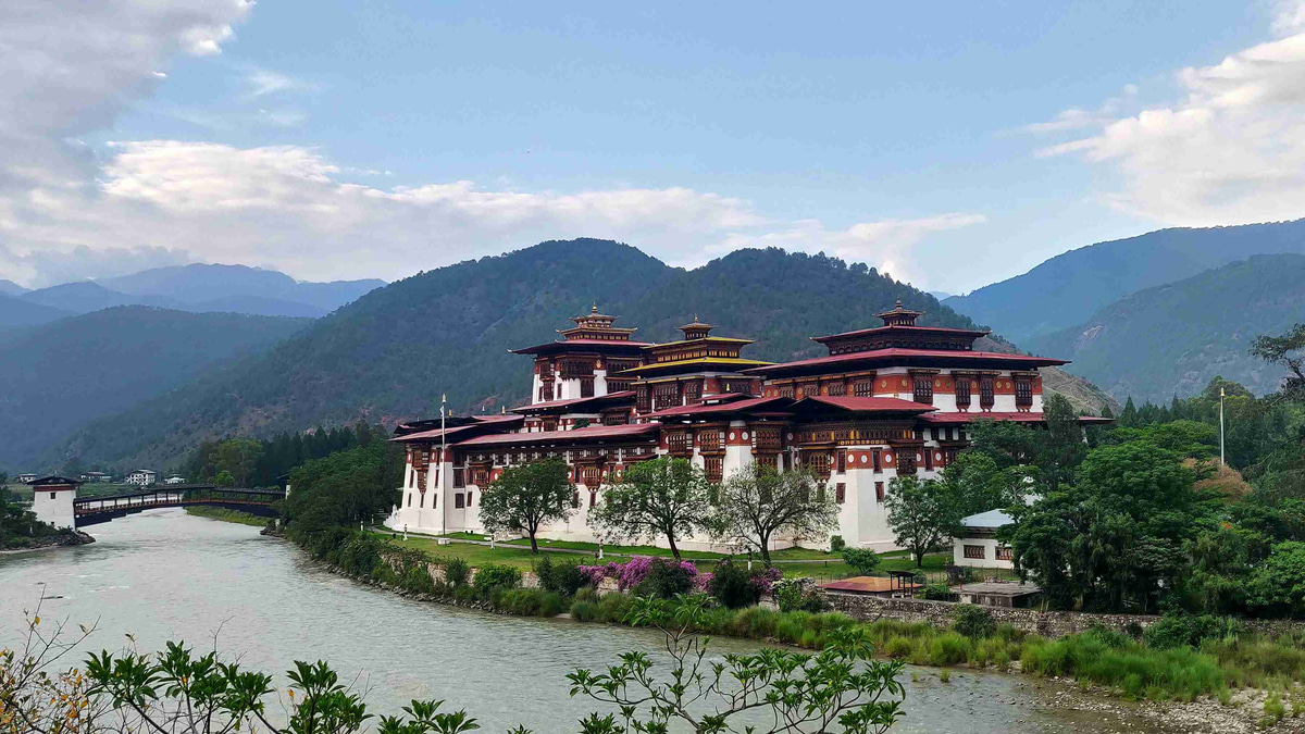
[[[177,54],[214,55],[248,0],[0,3],[0,272],[31,286],[191,260],[273,264],[300,278],[395,278],[543,239],[600,236],[676,265],[782,244],[864,260],[902,277],[916,244],[976,214],[852,226],[786,221],[686,187],[519,191],[466,180],[381,187],[390,171],[345,167],[299,145],[77,140],[107,128],[166,77]],[[240,69],[239,64],[232,64]],[[243,69],[239,112],[164,111],[215,133],[291,127],[278,94],[311,85]]]

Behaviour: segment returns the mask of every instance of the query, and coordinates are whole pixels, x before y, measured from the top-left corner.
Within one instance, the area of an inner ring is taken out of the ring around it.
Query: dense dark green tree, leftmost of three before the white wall
[[[530,537],[530,552],[539,552],[535,534],[547,522],[572,513],[570,470],[561,458],[512,466],[480,495],[480,522],[491,533],[513,532]]]

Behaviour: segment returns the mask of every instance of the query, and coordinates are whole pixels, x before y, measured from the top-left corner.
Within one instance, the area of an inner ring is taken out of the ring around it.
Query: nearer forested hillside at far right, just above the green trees
[[[1073,359],[1070,372],[1120,401],[1189,397],[1215,375],[1265,394],[1278,389],[1283,371],[1248,350],[1257,336],[1300,323],[1305,323],[1305,256],[1258,255],[1138,291],[1084,324],[1027,340],[1024,346]]]

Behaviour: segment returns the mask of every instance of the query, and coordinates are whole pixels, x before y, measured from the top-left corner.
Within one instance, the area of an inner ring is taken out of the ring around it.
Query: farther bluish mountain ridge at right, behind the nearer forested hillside
[[[1159,230],[1058,255],[1023,276],[951,296],[946,306],[1024,346],[1030,337],[1082,324],[1137,290],[1283,252],[1305,255],[1305,219]]]

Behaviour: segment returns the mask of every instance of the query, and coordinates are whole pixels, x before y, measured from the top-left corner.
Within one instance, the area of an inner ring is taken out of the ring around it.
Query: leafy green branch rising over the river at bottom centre
[[[616,714],[590,714],[581,721],[585,734],[664,734],[673,721],[698,733],[883,734],[902,716],[906,690],[897,675],[903,663],[876,661],[863,628],[831,630],[814,656],[766,648],[726,654],[722,662],[707,657],[710,637],[694,632],[711,603],[703,594],[634,603],[626,622],[666,633],[671,678],[654,678],[652,661],[642,652],[621,654],[620,665],[606,673],[568,674],[572,696],[583,694],[620,710],[620,722]]]

